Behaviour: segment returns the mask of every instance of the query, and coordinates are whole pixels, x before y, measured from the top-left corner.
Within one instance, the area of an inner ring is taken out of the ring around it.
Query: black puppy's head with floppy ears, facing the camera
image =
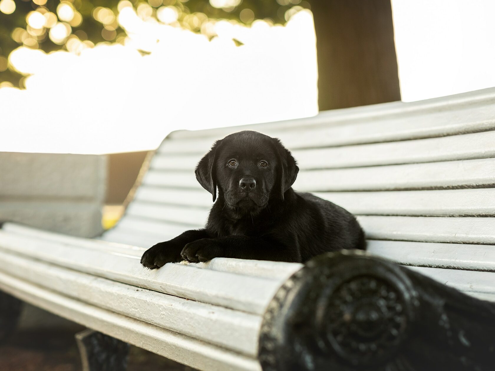
[[[271,197],[284,200],[298,171],[279,139],[244,131],[217,140],[199,161],[196,179],[213,201],[218,188],[228,206],[252,212],[265,207]]]

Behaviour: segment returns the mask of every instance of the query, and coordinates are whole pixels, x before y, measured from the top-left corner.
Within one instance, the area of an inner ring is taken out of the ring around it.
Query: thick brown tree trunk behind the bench
[[[320,111],[400,100],[390,0],[312,0]]]

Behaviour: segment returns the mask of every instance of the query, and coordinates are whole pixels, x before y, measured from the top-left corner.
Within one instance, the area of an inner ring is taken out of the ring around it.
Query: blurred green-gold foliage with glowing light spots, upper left
[[[18,46],[77,53],[100,42],[124,43],[118,13],[126,6],[145,20],[209,38],[218,19],[284,24],[293,12],[310,7],[305,0],[0,0],[0,83],[22,87],[22,77],[7,67],[9,53]]]

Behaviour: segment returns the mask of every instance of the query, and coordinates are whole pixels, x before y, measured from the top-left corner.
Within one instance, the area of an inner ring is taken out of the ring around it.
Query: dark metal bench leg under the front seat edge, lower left
[[[129,344],[101,332],[86,329],[76,334],[83,371],[125,371]]]

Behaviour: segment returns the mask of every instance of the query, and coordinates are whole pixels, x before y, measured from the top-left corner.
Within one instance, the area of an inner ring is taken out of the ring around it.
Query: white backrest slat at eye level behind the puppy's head
[[[296,149],[299,169],[331,169],[495,157],[495,131],[397,142]],[[202,157],[197,154],[160,154],[150,168],[192,171]]]

